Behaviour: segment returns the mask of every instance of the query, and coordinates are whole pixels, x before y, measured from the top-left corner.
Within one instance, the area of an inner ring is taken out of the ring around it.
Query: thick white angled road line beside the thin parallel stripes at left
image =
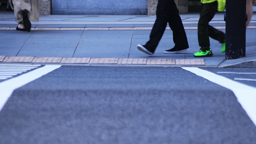
[[[15,78],[11,78],[9,80],[1,82],[0,111],[4,107],[4,104],[7,102],[8,98],[12,95],[12,92],[14,90],[20,88],[21,86],[24,86],[25,84],[28,84],[29,82],[32,82],[33,80],[36,80],[37,78],[40,78],[41,76],[44,76],[45,74],[48,74],[49,72],[52,72],[57,68],[60,68],[60,65],[46,65],[42,68],[32,70],[31,72],[28,72],[26,74],[22,74]]]

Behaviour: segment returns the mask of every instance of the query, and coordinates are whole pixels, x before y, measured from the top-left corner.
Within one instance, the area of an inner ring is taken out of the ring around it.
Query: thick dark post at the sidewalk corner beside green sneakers
[[[246,0],[226,0],[226,59],[245,57]]]

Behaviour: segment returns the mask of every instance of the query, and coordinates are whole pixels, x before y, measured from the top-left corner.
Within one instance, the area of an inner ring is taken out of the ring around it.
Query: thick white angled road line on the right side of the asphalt
[[[207,80],[210,80],[211,82],[219,84],[220,86],[232,90],[236,98],[238,99],[238,102],[241,104],[241,106],[244,108],[244,110],[256,126],[256,88],[248,86],[246,84],[241,84],[234,80],[225,78],[224,76],[219,76],[217,74],[199,68],[182,68]]]

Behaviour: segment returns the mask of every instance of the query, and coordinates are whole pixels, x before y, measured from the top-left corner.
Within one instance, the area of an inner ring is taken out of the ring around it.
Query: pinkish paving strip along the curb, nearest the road
[[[62,58],[0,56],[0,62],[60,63],[60,64],[146,64],[146,65],[205,65],[204,59],[147,58]]]

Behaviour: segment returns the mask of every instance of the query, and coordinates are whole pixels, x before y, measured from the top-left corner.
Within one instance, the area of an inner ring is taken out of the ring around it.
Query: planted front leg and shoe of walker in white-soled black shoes
[[[175,54],[188,50],[188,39],[174,0],[170,2],[168,8],[168,24],[172,30],[174,47],[170,50],[165,50],[164,53]]]

